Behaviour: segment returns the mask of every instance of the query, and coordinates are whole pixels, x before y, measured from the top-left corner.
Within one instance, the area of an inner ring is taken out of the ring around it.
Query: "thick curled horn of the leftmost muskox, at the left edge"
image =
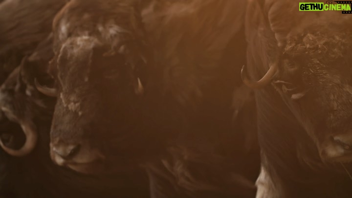
[[[37,144],[38,134],[35,125],[32,122],[26,124],[21,123],[21,128],[26,136],[24,145],[19,150],[14,150],[6,147],[0,139],[1,148],[8,154],[13,156],[24,156],[33,151]]]

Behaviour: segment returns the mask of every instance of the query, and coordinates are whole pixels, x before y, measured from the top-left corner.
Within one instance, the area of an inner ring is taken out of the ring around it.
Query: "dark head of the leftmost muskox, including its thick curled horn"
[[[51,44],[51,37],[44,40],[31,56],[24,57],[21,65],[1,85],[0,146],[8,154],[29,154],[37,143],[37,124],[43,117],[51,119],[50,103],[53,106],[53,99],[47,99],[34,86],[35,75],[46,81],[40,73],[44,74],[43,66],[45,68],[52,57],[51,48],[43,47],[50,46],[47,43]]]

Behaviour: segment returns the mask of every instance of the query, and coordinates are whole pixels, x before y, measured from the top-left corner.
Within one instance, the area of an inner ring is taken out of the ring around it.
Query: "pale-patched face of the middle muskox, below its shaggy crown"
[[[109,171],[105,162],[113,155],[131,154],[119,152],[131,147],[123,138],[138,122],[142,85],[134,68],[138,64],[129,62],[123,50],[111,53],[93,37],[72,37],[52,60],[58,99],[50,152],[58,165],[96,173]]]

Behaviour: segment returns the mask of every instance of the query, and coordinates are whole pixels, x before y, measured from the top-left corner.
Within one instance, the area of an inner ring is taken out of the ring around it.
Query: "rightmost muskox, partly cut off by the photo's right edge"
[[[247,7],[242,77],[257,88],[257,197],[351,197],[351,15],[298,6],[252,0]]]

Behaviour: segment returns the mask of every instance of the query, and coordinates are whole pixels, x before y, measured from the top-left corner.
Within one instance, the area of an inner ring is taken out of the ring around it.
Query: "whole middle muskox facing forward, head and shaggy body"
[[[228,0],[67,3],[53,22],[48,72],[56,85],[37,86],[58,98],[53,161],[92,175],[142,164],[153,197],[253,196],[247,177],[259,168],[242,161],[252,148],[243,151],[245,129],[233,126],[231,108],[241,86],[234,73],[244,62],[244,6]],[[235,104],[241,114],[243,103]]]

